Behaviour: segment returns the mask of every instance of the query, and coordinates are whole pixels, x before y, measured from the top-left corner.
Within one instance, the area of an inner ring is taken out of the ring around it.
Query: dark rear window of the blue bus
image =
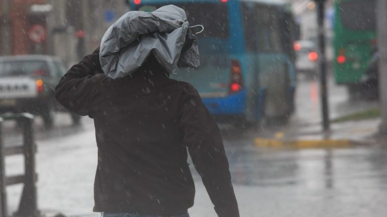
[[[227,4],[201,3],[201,4],[174,4],[184,9],[190,26],[203,25],[204,31],[199,38],[228,38],[228,10]],[[163,5],[141,5],[138,11],[152,12]],[[198,32],[200,27],[198,28]]]

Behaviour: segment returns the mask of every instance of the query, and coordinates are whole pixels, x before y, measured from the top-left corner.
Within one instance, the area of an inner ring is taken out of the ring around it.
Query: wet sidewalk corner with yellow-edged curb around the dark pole
[[[259,134],[256,147],[287,148],[344,148],[356,145],[370,145],[377,141],[380,119],[349,121],[331,125],[331,131],[324,133],[319,124],[293,126],[277,132]]]

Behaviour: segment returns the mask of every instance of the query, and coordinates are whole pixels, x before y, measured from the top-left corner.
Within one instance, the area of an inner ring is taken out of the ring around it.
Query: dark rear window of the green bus
[[[349,30],[376,30],[375,1],[349,1],[339,6],[343,27]]]

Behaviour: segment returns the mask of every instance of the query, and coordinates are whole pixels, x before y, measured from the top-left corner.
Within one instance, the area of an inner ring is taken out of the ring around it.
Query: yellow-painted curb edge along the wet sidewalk
[[[255,138],[255,147],[258,148],[295,148],[295,149],[312,149],[312,148],[346,148],[351,146],[350,140],[276,140]]]

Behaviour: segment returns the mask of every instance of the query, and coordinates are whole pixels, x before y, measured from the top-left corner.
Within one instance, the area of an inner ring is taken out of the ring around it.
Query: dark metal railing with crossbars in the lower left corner
[[[5,147],[3,135],[3,123],[5,121],[17,121],[22,124],[23,143],[11,147]],[[14,213],[15,217],[37,217],[39,211],[37,208],[36,181],[35,173],[35,153],[36,145],[33,132],[33,116],[22,113],[15,115],[0,116],[0,217],[6,217],[7,210],[7,193],[8,185],[24,183],[22,196],[18,210]],[[9,155],[24,155],[23,175],[6,176],[5,157]]]

